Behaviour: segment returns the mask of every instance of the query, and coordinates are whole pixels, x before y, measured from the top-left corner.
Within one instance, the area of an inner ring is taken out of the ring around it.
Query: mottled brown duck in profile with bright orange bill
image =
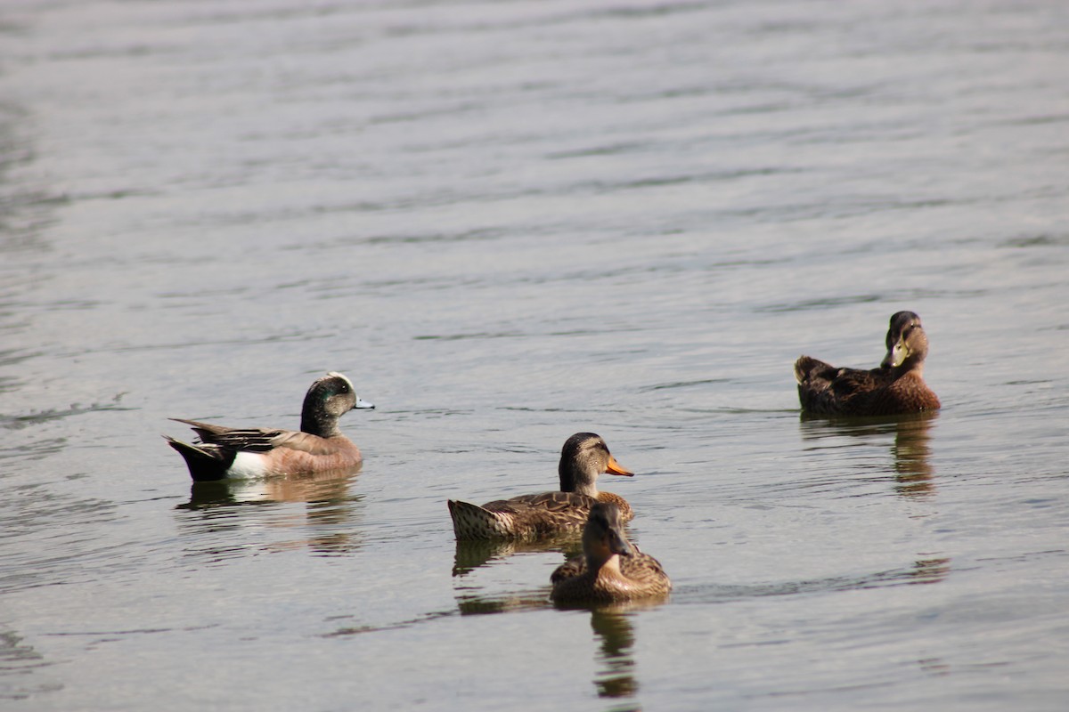
[[[613,502],[624,521],[634,517],[631,505],[619,494],[598,491],[598,475],[608,473],[633,477],[613,457],[601,436],[576,432],[564,442],[557,466],[560,490],[495,500],[479,506],[449,500],[449,515],[458,540],[538,538],[579,531],[590,508],[598,502]]]

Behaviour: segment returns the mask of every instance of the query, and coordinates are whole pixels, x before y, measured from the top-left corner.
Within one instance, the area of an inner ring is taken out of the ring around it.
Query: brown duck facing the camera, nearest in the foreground
[[[583,555],[557,567],[549,582],[555,603],[617,603],[671,591],[661,563],[628,541],[620,508],[611,502],[590,508]]]

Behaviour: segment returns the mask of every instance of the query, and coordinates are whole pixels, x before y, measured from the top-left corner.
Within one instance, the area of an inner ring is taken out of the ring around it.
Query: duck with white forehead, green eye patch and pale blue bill
[[[192,428],[199,440],[189,444],[170,436],[164,439],[185,459],[195,482],[353,469],[362,456],[338,428],[338,418],[354,409],[372,408],[357,397],[347,377],[330,371],[308,389],[300,430],[228,428],[172,417]]]

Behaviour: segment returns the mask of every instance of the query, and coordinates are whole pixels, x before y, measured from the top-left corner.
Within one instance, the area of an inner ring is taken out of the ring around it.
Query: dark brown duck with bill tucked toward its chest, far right
[[[803,355],[794,362],[799,400],[818,415],[901,415],[939,410],[942,404],[925,383],[928,335],[914,312],[890,317],[887,355],[871,369],[836,368]]]

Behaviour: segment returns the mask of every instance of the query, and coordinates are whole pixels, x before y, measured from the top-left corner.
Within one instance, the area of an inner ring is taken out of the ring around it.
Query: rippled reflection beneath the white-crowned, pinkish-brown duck
[[[265,542],[258,550],[274,552],[307,547],[317,554],[350,553],[360,545],[359,535],[351,523],[363,496],[348,493],[358,472],[359,468],[303,476],[193,482],[189,502],[177,505],[175,510],[189,513],[180,520],[187,534],[211,540],[197,553],[213,559],[247,551],[245,544],[227,542],[246,541],[247,535],[232,535],[253,524],[268,531],[309,531],[308,536]]]

